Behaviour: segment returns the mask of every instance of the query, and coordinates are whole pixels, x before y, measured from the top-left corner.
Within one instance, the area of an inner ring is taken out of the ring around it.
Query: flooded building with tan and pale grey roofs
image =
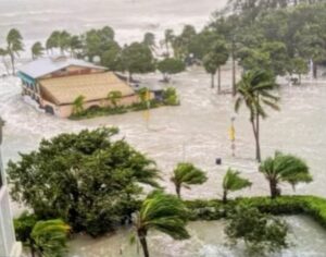
[[[135,90],[113,72],[92,63],[67,57],[42,58],[22,68],[23,96],[29,96],[47,113],[67,118],[74,101],[83,96],[84,109],[110,106],[111,91],[121,91],[120,105],[139,100]]]

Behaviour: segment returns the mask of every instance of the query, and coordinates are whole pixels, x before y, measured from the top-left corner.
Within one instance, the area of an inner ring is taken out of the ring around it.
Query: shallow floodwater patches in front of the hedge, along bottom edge
[[[326,232],[306,217],[287,217],[290,247],[271,257],[324,257]],[[224,221],[191,222],[190,240],[175,242],[158,232],[149,233],[151,256],[155,257],[241,257],[243,244],[229,248],[224,235]],[[309,228],[309,229],[308,229]],[[139,245],[130,244],[133,231],[124,229],[115,235],[92,240],[78,236],[71,242],[72,257],[141,257]],[[110,246],[110,247],[109,247]],[[313,247],[312,247],[313,246]]]

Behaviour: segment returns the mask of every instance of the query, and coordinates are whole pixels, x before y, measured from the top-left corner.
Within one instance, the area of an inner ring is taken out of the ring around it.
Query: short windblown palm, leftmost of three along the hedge
[[[205,173],[191,163],[178,163],[171,181],[175,185],[177,196],[180,198],[181,187],[190,188],[190,185],[199,185],[206,182]]]

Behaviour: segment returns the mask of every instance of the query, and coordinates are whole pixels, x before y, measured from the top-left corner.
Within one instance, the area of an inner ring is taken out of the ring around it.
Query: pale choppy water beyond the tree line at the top
[[[112,26],[118,41],[139,40],[146,32],[163,34],[185,24],[202,27],[227,0],[1,0],[0,45],[18,28],[27,45],[43,41],[54,29],[82,33]]]

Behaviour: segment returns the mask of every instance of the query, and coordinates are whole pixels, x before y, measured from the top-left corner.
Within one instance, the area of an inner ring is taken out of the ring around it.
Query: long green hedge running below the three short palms
[[[185,201],[190,220],[218,220],[226,218],[228,211],[237,205],[247,205],[271,215],[306,215],[326,229],[326,199],[317,196],[280,196],[237,198],[223,204],[222,200],[187,200]]]

